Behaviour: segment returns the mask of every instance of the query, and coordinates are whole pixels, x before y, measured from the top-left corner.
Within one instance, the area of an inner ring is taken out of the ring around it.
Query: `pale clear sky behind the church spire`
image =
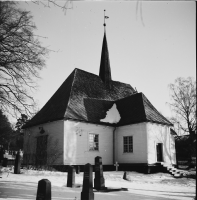
[[[46,1],[45,1],[46,2]],[[58,3],[63,4],[65,1]],[[46,59],[34,98],[42,108],[74,68],[99,74],[104,9],[112,79],[143,92],[164,116],[171,112],[168,85],[196,75],[194,1],[74,1],[57,6],[20,2],[31,11]]]

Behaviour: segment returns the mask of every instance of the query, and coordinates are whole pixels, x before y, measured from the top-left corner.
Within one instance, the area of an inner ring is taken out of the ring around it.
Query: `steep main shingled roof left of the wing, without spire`
[[[116,101],[133,93],[135,90],[129,84],[110,81],[108,88],[99,76],[76,68],[23,128],[64,118],[94,122],[91,107],[88,108],[88,105],[93,106],[93,101],[90,99]]]

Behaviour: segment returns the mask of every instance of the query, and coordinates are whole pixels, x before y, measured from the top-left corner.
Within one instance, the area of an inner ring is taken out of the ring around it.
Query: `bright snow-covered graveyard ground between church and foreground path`
[[[1,168],[0,182],[20,182],[36,184],[41,179],[48,179],[52,187],[65,187],[67,172],[21,170],[14,174],[13,169]],[[146,194],[166,199],[189,200],[195,196],[196,180],[191,178],[175,179],[170,174],[141,174],[130,172],[130,181],[123,180],[124,172],[104,172],[105,186],[110,188],[127,188],[132,194]],[[94,175],[94,173],[93,173]],[[94,178],[94,177],[93,177]],[[76,184],[82,184],[83,172],[75,175]],[[0,197],[1,198],[1,197]]]

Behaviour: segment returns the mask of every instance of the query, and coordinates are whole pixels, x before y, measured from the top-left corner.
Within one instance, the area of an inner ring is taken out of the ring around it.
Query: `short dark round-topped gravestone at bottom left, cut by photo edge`
[[[51,200],[51,182],[48,179],[38,182],[36,200]]]

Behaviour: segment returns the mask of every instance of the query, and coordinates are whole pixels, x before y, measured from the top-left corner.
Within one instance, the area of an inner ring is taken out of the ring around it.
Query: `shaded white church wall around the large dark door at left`
[[[63,132],[64,121],[59,120],[51,123],[46,123],[24,130],[24,155],[36,153],[37,137],[48,135],[47,154],[56,154],[56,159],[53,164],[63,164]],[[40,134],[39,127],[43,127],[45,133]]]

